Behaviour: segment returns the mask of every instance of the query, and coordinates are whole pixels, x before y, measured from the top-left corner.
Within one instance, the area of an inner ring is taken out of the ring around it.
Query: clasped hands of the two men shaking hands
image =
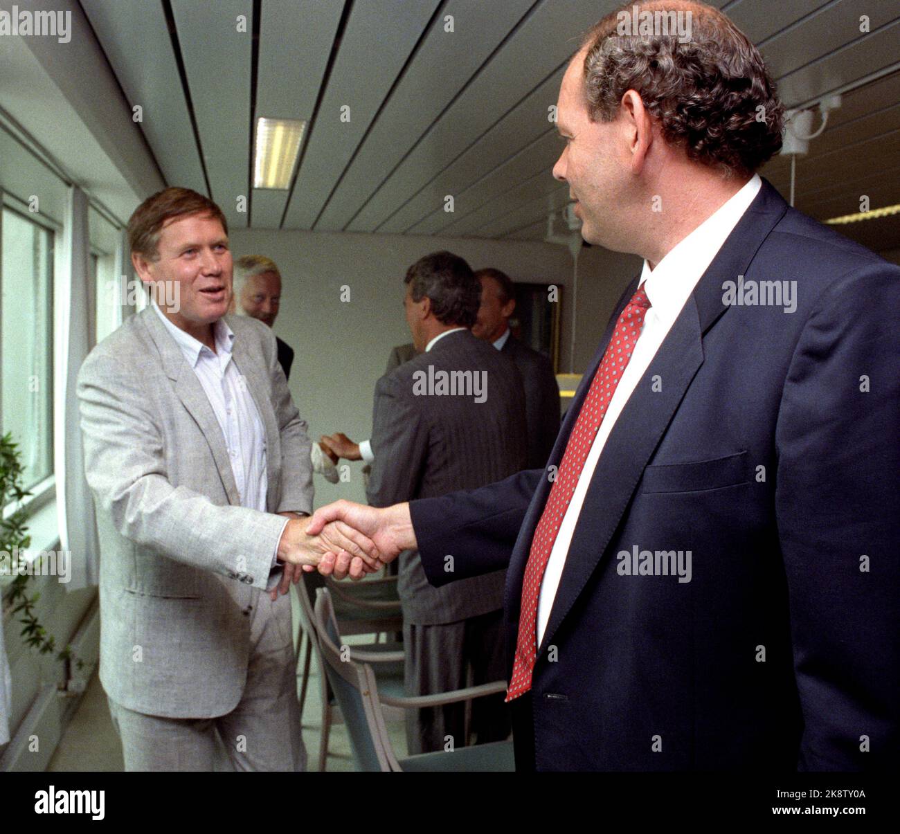
[[[335,501],[309,518],[292,517],[284,527],[277,554],[284,574],[271,596],[286,594],[303,570],[360,579],[416,546],[409,503],[377,509]]]

